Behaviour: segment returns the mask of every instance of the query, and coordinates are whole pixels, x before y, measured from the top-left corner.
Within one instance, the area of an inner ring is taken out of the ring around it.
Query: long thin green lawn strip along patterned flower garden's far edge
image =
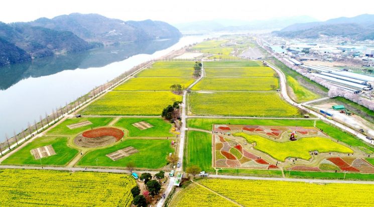
[[[313,127],[313,120],[189,118],[187,127],[211,131],[213,124]]]

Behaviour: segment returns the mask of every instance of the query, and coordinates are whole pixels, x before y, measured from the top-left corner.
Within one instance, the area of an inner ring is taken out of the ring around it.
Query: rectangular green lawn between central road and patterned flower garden
[[[187,152],[185,167],[199,166],[201,170],[214,171],[212,168],[212,135],[205,132],[187,132]]]

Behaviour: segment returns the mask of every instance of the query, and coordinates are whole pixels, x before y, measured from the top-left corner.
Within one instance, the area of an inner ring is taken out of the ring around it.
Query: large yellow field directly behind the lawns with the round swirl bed
[[[84,115],[161,115],[182,96],[170,91],[110,91],[82,111]]]

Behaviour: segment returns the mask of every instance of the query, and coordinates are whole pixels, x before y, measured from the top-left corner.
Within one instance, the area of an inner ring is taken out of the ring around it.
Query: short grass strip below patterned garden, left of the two
[[[222,168],[218,170],[218,174],[229,175],[245,175],[245,176],[266,176],[266,177],[282,177],[281,170],[252,170],[252,169],[229,169]]]

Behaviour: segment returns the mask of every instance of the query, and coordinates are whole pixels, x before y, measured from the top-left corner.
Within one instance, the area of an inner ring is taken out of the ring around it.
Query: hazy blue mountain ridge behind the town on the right
[[[321,35],[350,37],[356,40],[374,39],[374,15],[340,17],[324,22],[310,22],[290,25],[273,34],[291,38],[318,38]]]

